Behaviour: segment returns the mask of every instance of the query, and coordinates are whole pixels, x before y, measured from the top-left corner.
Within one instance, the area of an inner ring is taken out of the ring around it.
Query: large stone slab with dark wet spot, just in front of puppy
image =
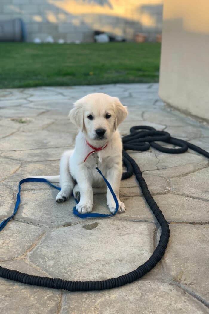
[[[84,221],[52,231],[36,246],[29,260],[53,277],[103,280],[144,263],[153,251],[154,230],[150,223]]]

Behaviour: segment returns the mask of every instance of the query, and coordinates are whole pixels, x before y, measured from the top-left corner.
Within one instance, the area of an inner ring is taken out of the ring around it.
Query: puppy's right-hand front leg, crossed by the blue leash
[[[124,213],[125,205],[119,199],[120,180],[122,176],[122,167],[120,165],[114,165],[107,171],[107,181],[112,186],[113,191],[118,199],[118,213]],[[107,189],[107,206],[111,213],[115,211],[115,201],[109,189]]]

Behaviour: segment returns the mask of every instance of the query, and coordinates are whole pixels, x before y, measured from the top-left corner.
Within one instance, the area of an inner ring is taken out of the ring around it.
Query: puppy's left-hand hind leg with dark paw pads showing
[[[60,159],[60,186],[61,191],[56,196],[56,202],[65,202],[72,193],[74,182],[70,174],[69,158],[71,152],[65,152]]]

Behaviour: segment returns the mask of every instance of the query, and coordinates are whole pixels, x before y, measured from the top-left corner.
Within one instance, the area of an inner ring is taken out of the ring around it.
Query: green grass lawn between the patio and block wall
[[[159,43],[0,43],[0,88],[157,82]]]

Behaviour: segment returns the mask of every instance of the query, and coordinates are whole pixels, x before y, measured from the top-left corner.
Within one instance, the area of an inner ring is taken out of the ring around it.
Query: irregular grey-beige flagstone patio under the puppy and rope
[[[76,127],[73,102],[92,92],[120,98],[134,125],[150,125],[209,151],[209,127],[164,106],[158,84],[116,84],[0,90],[0,221],[13,212],[18,181],[59,174],[63,151]],[[170,155],[132,152],[150,192],[170,224],[162,260],[142,279],[101,292],[67,292],[0,279],[1,314],[26,313],[209,313],[208,160],[191,150]],[[0,265],[29,274],[70,280],[102,280],[130,272],[156,247],[160,228],[135,178],[121,182],[126,212],[108,219],[80,219],[74,200],[55,202],[44,183],[22,186],[22,202],[0,233]],[[108,213],[105,195],[94,211]]]

